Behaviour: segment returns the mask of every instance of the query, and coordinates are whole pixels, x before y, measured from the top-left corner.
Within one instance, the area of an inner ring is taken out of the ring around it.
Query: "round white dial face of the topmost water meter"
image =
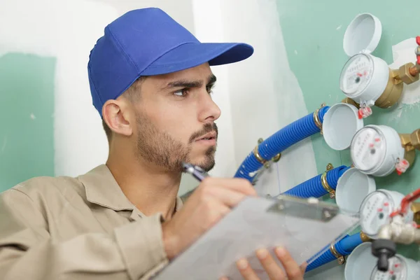
[[[363,92],[369,84],[374,66],[372,57],[358,54],[344,64],[339,77],[339,87],[344,94],[355,97]]]

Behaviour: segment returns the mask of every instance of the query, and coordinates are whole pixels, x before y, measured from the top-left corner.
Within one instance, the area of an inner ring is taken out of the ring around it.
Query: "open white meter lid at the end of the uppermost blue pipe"
[[[363,128],[363,119],[358,118],[358,109],[346,103],[337,103],[328,109],[323,118],[325,143],[336,151],[349,148],[354,134]]]

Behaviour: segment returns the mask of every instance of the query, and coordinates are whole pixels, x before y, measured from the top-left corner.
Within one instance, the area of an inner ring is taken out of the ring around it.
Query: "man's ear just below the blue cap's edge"
[[[102,107],[102,118],[113,133],[131,136],[130,108],[124,100],[108,100]]]

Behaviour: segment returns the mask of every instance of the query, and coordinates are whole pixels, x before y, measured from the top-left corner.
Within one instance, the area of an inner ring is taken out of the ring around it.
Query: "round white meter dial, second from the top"
[[[351,141],[351,160],[362,172],[379,167],[386,154],[384,135],[372,127],[365,127],[354,135]]]

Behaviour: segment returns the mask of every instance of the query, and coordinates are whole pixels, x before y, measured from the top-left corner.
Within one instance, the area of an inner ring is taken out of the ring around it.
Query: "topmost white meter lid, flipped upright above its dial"
[[[360,52],[371,53],[379,44],[382,25],[377,17],[370,13],[356,16],[344,33],[343,48],[349,57]]]

